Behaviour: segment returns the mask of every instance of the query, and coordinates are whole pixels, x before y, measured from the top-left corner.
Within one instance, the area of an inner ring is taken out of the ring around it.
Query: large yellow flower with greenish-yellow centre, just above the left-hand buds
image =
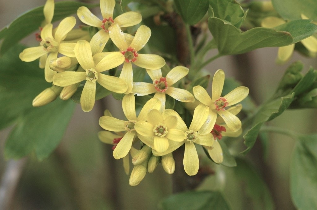
[[[64,71],[59,72],[53,78],[53,83],[57,86],[65,87],[84,81],[85,86],[81,93],[81,108],[83,111],[91,111],[95,103],[96,81],[104,88],[115,92],[124,93],[126,82],[114,76],[102,74],[101,72],[112,69],[115,62],[109,64],[108,59],[115,61],[116,58],[106,56],[95,65],[89,43],[85,40],[78,41],[74,48],[78,63],[84,71]],[[105,65],[105,63],[109,65]]]

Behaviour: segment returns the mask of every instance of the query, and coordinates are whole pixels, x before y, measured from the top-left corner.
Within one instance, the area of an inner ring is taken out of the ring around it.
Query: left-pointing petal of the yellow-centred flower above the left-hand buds
[[[66,87],[68,85],[72,85],[72,84],[84,81],[85,79],[86,79],[86,72],[63,71],[54,75],[53,84],[60,87]]]

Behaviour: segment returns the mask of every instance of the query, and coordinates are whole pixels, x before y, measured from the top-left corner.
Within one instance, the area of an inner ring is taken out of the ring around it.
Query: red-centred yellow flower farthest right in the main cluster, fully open
[[[202,126],[202,130],[212,130],[217,119],[217,114],[221,116],[228,128],[235,132],[241,128],[241,121],[225,108],[235,105],[242,101],[249,94],[249,88],[237,87],[225,96],[221,96],[224,84],[224,72],[219,69],[216,71],[212,81],[212,97],[201,86],[193,87],[194,96],[202,104],[209,107],[209,116]]]

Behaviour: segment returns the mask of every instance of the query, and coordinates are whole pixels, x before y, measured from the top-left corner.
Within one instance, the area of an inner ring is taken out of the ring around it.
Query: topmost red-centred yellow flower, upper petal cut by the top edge
[[[95,42],[96,45],[92,46],[93,54],[96,53],[94,50],[101,52],[105,47],[107,41],[109,40],[109,33],[111,32],[111,28],[109,27],[113,23],[119,24],[120,27],[129,27],[137,25],[142,21],[141,14],[132,11],[123,13],[113,19],[114,6],[115,0],[100,0],[102,20],[92,14],[87,7],[80,7],[77,10],[77,15],[83,23],[89,26],[101,28],[94,36],[94,39],[98,40],[98,42]]]

